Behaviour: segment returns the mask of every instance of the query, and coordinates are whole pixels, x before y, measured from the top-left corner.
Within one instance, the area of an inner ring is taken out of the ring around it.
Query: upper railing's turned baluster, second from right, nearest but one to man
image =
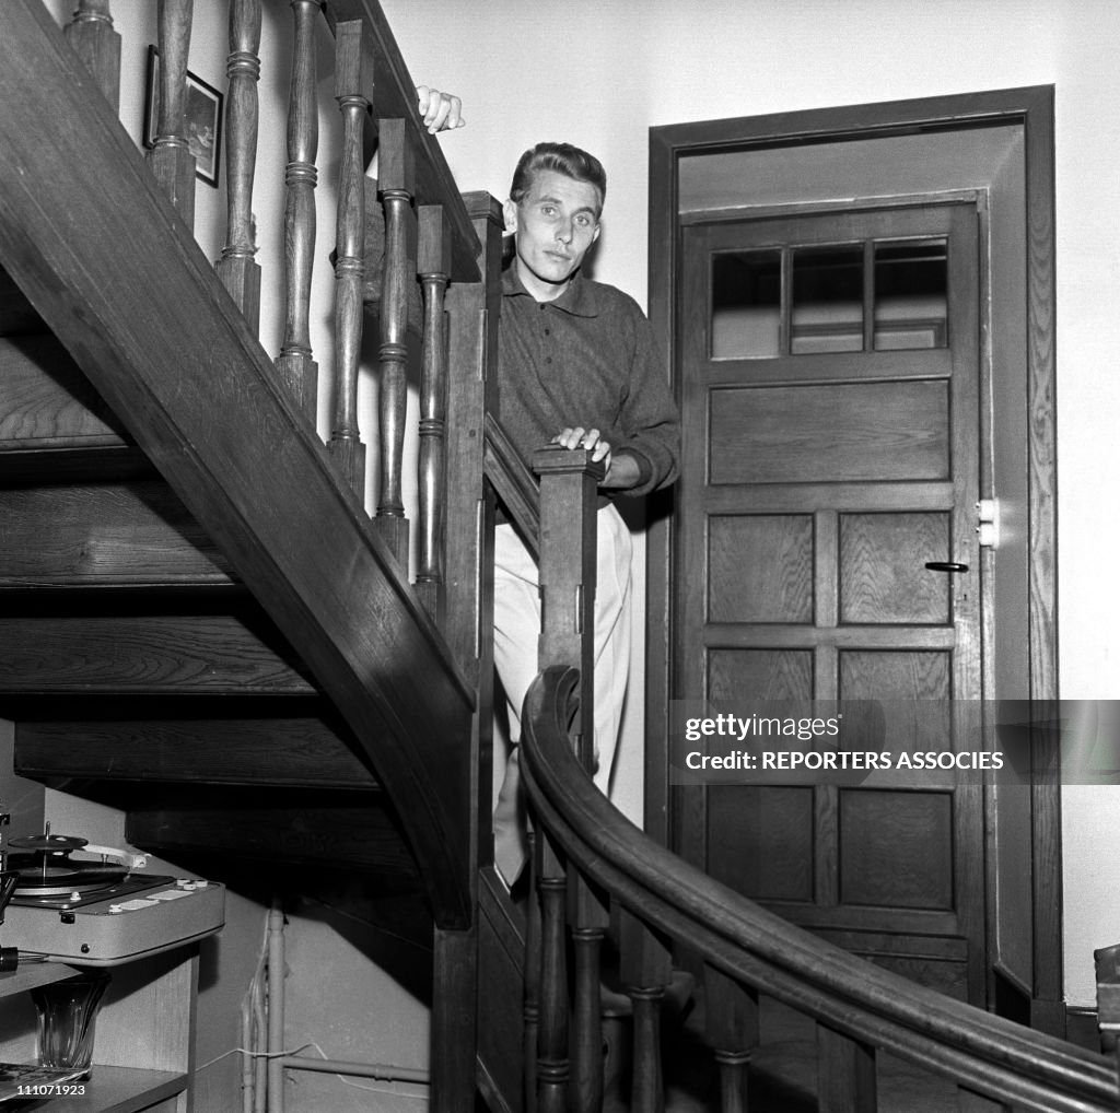
[[[409,523],[401,498],[404,457],[405,363],[409,288],[416,280],[416,159],[403,120],[382,120],[377,176],[385,207],[384,279],[381,283],[379,410],[381,415],[381,493],[376,523],[385,544],[408,567]]]

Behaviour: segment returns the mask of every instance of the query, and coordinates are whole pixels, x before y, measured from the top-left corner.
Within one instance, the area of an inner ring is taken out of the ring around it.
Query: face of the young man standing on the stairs
[[[505,203],[505,224],[517,236],[517,277],[538,301],[568,288],[599,238],[599,190],[554,170],[542,170],[520,204]]]

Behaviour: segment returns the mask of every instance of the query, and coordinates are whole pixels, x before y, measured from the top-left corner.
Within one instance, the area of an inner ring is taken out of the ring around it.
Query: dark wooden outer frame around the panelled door
[[[678,163],[684,156],[1017,124],[1025,138],[1027,391],[1028,698],[1053,701],[1057,684],[1057,521],[1055,412],[1054,88],[1052,85],[806,110],[650,129],[648,308],[674,391],[681,222]],[[668,503],[668,499],[666,499]],[[673,522],[655,503],[647,534],[645,827],[669,842],[668,723],[673,692]],[[1036,761],[1056,760],[1057,742],[1033,739]],[[1043,752],[1047,747],[1049,752]],[[1052,767],[1052,766],[1039,766]],[[1039,778],[1046,780],[1047,778]],[[1061,787],[1032,786],[1033,982],[1030,1023],[1064,1035]]]

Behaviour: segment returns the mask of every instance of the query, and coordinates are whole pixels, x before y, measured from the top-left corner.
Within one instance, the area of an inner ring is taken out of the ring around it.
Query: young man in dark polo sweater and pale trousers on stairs
[[[550,442],[589,449],[606,465],[597,521],[595,782],[610,795],[631,644],[631,536],[613,499],[673,483],[680,418],[645,315],[633,298],[581,273],[599,238],[606,190],[598,159],[567,143],[539,143],[517,163],[505,204],[514,253],[502,283],[498,417],[526,466]],[[516,742],[536,675],[541,604],[536,563],[501,520],[494,549],[494,662],[514,746],[494,811],[494,857],[512,886],[528,854]]]

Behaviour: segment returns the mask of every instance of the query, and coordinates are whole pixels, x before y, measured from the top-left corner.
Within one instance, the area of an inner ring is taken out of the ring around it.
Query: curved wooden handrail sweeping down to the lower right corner
[[[522,768],[538,823],[569,860],[647,925],[711,966],[857,1040],[993,1101],[1038,1113],[1118,1107],[1111,1059],[954,1001],[766,911],[657,845],[580,768],[566,723],[573,668],[525,699]]]

